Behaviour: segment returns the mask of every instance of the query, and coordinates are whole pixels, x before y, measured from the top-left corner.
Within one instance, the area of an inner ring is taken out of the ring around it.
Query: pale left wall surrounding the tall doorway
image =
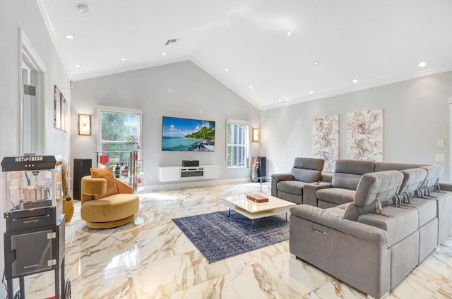
[[[40,56],[47,72],[45,74],[45,111],[47,128],[47,152],[69,157],[69,133],[53,128],[54,85],[57,85],[66,99],[71,102],[69,78],[52,44],[35,1],[0,1],[0,159],[17,156],[19,136],[19,28],[30,39],[32,47]],[[0,177],[1,214],[4,213],[4,176]],[[1,243],[5,221],[0,220]],[[0,249],[0,269],[4,269],[4,247]],[[4,288],[0,288],[0,298],[5,298]]]

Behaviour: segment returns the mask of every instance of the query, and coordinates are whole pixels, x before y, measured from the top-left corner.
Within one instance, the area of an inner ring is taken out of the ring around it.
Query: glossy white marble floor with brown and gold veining
[[[72,298],[366,298],[302,260],[285,241],[212,264],[172,218],[225,210],[219,196],[256,193],[258,183],[141,193],[133,223],[93,230],[80,202],[66,224],[66,279]],[[365,274],[363,274],[365,275]],[[26,276],[26,298],[54,295],[53,272]],[[388,298],[452,298],[452,238]]]

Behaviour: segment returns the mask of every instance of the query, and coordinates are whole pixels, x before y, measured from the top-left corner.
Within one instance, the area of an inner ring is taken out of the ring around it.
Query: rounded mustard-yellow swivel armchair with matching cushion
[[[112,228],[135,218],[139,198],[131,185],[114,178],[112,169],[91,169],[81,185],[81,219],[89,228]]]

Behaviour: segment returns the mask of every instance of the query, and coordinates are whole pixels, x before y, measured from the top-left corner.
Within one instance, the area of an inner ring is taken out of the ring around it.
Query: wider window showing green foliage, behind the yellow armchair
[[[132,150],[131,141],[141,145],[141,110],[103,108],[97,110],[100,151]]]

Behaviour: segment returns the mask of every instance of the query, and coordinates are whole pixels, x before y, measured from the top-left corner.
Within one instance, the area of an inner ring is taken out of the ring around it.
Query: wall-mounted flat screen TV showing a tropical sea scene
[[[162,151],[213,152],[215,121],[163,116]]]

